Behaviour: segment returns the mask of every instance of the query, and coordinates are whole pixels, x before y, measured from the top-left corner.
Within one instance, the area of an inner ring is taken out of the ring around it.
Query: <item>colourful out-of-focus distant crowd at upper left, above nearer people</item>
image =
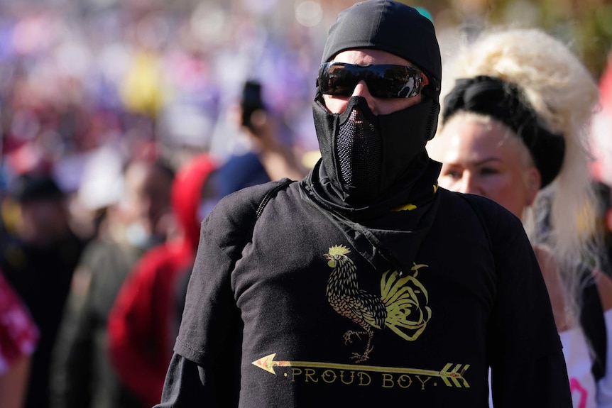
[[[281,34],[256,14],[206,2],[85,2],[71,13],[15,3],[0,20],[5,185],[45,167],[74,192],[102,147],[121,160],[153,148],[175,167],[194,151],[224,160],[241,143],[227,114],[253,78],[281,116],[283,143],[316,148],[305,108],[318,40],[298,23]]]

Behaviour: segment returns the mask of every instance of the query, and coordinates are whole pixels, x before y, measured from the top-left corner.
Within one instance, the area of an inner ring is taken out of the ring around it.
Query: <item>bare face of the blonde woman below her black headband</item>
[[[488,197],[523,215],[540,189],[540,172],[506,126],[454,116],[439,136],[447,140],[440,156],[441,187]]]

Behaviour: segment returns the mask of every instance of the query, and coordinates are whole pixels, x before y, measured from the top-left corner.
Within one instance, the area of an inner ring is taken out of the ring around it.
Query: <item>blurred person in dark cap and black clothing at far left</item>
[[[67,193],[52,175],[26,172],[11,182],[18,208],[14,235],[0,240],[0,268],[38,327],[26,408],[49,407],[50,364],[70,282],[86,239],[71,226]]]

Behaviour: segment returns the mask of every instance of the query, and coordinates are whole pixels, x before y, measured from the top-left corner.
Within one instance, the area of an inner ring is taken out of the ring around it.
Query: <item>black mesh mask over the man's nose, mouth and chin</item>
[[[325,172],[344,201],[364,202],[404,177],[425,150],[439,105],[426,99],[378,116],[364,97],[351,97],[341,114],[330,113],[322,98],[312,106]]]

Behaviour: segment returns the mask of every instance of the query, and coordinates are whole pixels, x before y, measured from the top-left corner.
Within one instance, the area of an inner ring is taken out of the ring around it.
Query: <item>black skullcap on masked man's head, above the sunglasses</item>
[[[442,59],[432,22],[417,9],[390,0],[366,0],[338,14],[322,62],[344,50],[375,48],[398,55],[442,82]]]

